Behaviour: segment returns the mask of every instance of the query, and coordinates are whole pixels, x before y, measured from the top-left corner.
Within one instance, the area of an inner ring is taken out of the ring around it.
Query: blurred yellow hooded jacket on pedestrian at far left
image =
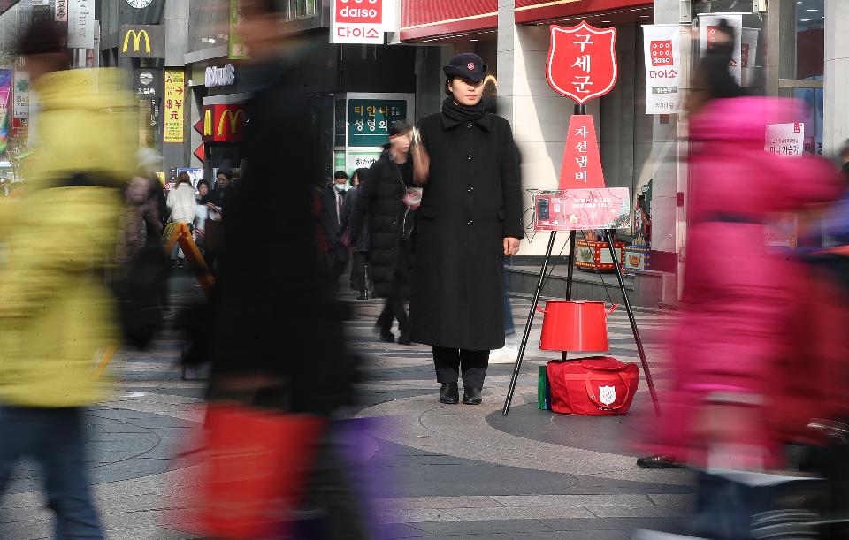
[[[0,200],[11,252],[0,270],[0,403],[79,407],[105,397],[95,369],[119,344],[104,269],[137,123],[112,70],[53,72],[33,88],[41,105],[24,194]],[[103,185],[62,186],[80,173]]]

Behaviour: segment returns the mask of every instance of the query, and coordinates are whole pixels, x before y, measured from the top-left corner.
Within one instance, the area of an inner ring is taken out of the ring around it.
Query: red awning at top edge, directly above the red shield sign
[[[544,20],[579,17],[593,13],[607,12],[619,18],[616,23],[623,22],[622,16],[633,15],[637,20],[634,8],[654,8],[654,2],[649,0],[516,0],[516,23],[532,23]],[[646,11],[644,11],[646,12]]]

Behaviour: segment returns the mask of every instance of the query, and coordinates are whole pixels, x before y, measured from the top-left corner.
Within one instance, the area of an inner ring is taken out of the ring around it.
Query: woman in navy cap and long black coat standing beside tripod
[[[440,114],[414,133],[418,210],[411,338],[433,346],[440,401],[478,405],[489,353],[504,346],[503,257],[516,255],[522,186],[509,122],[481,103],[487,66],[478,55],[451,58]]]

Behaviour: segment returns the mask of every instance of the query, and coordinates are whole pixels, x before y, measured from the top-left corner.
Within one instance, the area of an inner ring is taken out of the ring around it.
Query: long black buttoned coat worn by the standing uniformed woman
[[[430,174],[418,210],[410,301],[417,343],[504,346],[503,239],[523,238],[522,186],[509,122],[445,113],[421,120]]]

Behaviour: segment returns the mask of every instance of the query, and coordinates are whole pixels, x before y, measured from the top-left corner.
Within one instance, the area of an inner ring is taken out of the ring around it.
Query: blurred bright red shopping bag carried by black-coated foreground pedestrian
[[[279,537],[301,503],[325,420],[242,405],[210,405],[194,507],[175,529],[216,538]],[[185,497],[185,491],[180,493]]]

